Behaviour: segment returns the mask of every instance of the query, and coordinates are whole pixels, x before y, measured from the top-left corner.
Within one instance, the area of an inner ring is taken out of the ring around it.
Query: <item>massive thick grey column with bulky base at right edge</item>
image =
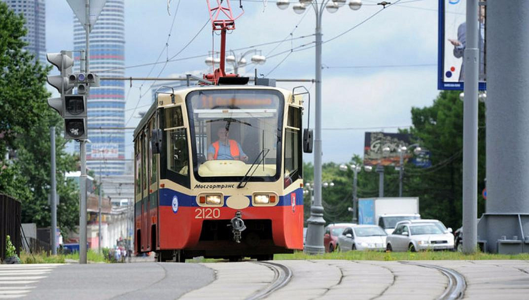
[[[487,201],[478,228],[487,250],[512,254],[528,246],[529,7],[523,0],[486,4]]]

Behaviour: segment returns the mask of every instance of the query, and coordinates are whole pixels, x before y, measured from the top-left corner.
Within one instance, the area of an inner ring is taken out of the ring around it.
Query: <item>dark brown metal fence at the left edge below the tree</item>
[[[21,220],[20,201],[8,195],[0,193],[0,258],[5,259],[6,243],[8,235],[16,248],[16,254],[20,256],[22,239],[20,236]]]

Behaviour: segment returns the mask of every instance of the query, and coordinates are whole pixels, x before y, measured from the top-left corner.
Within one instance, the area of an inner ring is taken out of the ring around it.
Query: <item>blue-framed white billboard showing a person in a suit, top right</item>
[[[482,1],[485,2],[485,1]],[[485,3],[480,4],[479,20],[479,89],[487,89]],[[437,88],[462,90],[464,49],[466,45],[466,0],[439,0],[439,42]]]

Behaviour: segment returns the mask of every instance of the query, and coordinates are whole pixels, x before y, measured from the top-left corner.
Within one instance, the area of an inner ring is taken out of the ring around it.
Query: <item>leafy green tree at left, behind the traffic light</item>
[[[58,225],[74,229],[78,196],[64,173],[75,170],[74,157],[63,151],[62,119],[50,109],[45,88],[50,68],[23,50],[24,18],[0,2],[0,191],[22,202],[22,222],[50,224],[50,133],[56,126],[57,191],[61,200]],[[4,160],[8,151],[16,158]]]

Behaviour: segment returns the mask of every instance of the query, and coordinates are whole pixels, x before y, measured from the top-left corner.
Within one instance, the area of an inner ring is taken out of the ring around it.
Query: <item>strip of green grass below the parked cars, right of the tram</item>
[[[347,251],[319,255],[308,255],[302,251],[294,254],[276,254],[275,260],[288,259],[345,259],[345,260],[484,260],[484,259],[520,259],[529,260],[529,254],[488,254],[476,252],[463,254],[453,251],[420,251],[420,252],[378,252],[378,251]]]

